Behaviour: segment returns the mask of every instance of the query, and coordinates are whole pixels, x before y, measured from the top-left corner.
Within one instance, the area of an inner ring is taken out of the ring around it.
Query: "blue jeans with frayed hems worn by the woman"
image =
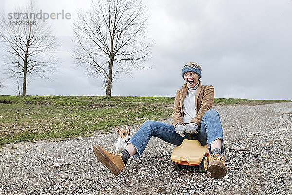
[[[186,133],[184,137],[180,136],[175,132],[175,128],[171,124],[147,120],[128,142],[133,144],[137,149],[137,153],[133,155],[135,158],[140,158],[152,136],[177,146],[181,145],[184,139],[187,139]],[[225,151],[221,120],[216,110],[208,110],[204,114],[199,133],[192,134],[192,137],[192,139],[198,140],[202,146],[208,144],[210,153],[212,142],[219,138],[222,140],[221,151],[222,153]]]

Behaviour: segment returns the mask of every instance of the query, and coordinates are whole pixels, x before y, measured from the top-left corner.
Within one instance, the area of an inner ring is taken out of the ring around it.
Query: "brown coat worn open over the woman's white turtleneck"
[[[212,85],[201,85],[199,81],[199,86],[195,95],[195,105],[197,110],[197,115],[191,122],[196,123],[199,127],[201,125],[202,118],[206,111],[212,109],[214,103],[214,88]],[[188,92],[187,84],[185,83],[181,89],[179,89],[175,94],[174,107],[172,113],[172,125],[175,126],[178,123],[183,123],[183,101]]]

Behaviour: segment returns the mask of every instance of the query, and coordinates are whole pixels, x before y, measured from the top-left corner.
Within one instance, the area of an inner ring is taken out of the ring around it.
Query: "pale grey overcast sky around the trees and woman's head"
[[[0,0],[8,14],[23,0]],[[101,80],[75,68],[70,56],[76,9],[90,0],[39,0],[43,12],[71,14],[50,20],[62,41],[58,72],[52,80],[35,78],[28,95],[105,95]],[[148,38],[154,40],[150,69],[114,81],[113,96],[174,96],[185,81],[186,62],[201,65],[201,82],[213,85],[217,98],[292,100],[292,0],[145,0]],[[3,62],[0,61],[3,66]],[[16,95],[7,80],[0,94]]]

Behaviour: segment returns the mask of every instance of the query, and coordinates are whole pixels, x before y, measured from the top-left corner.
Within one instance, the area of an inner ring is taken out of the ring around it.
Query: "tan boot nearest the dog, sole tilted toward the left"
[[[104,150],[99,145],[93,147],[93,153],[97,159],[104,164],[114,175],[119,175],[125,164],[122,160],[122,153],[112,153]]]

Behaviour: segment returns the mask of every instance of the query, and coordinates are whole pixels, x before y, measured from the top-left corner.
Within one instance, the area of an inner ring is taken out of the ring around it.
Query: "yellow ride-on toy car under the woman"
[[[175,147],[171,153],[174,168],[179,169],[181,165],[199,165],[199,171],[206,173],[209,161],[208,145],[201,146],[198,140],[183,140],[180,146]]]

